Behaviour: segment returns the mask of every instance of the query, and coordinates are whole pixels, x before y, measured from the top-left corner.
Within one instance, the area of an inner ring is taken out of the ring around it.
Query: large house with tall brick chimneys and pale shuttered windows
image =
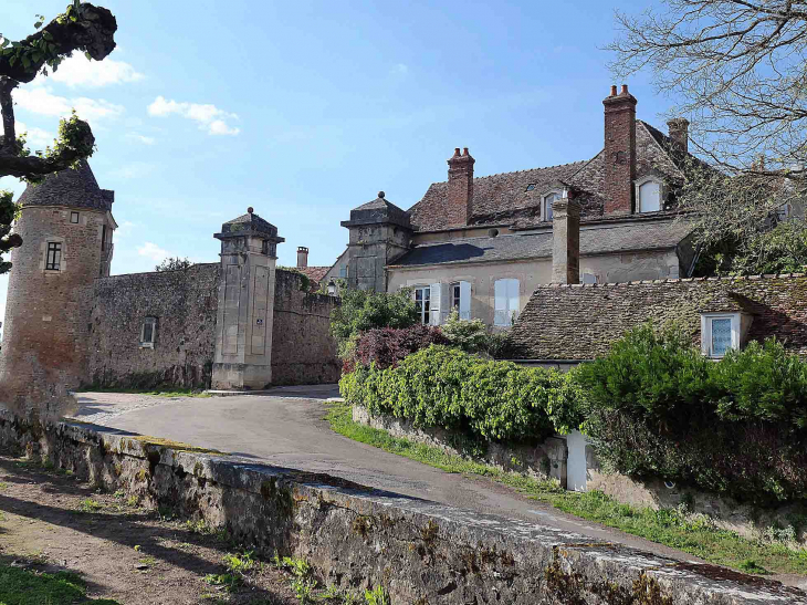
[[[569,213],[580,223],[575,280],[689,275],[691,227],[674,211],[693,157],[688,122],[671,121],[664,135],[637,119],[627,86],[612,86],[602,103],[605,146],[594,158],[474,177],[474,158],[458,148],[448,180],[429,186],[409,210],[384,192],[352,210],[342,223],[349,230],[348,285],[412,288],[423,322],[440,324],[457,309],[464,319],[510,326],[539,284],[557,281],[553,249],[565,241],[558,231]],[[570,210],[556,209],[568,200]]]

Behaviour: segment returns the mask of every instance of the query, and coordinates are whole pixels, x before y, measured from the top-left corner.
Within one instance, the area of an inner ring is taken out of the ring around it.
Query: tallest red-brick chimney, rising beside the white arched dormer
[[[633,180],[636,179],[636,97],[628,85],[602,101],[605,105],[605,213],[633,212]]]

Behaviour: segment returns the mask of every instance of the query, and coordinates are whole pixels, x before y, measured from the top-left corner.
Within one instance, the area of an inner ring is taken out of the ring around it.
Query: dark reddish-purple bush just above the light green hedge
[[[355,364],[369,366],[375,362],[379,369],[396,367],[407,355],[432,344],[448,344],[448,338],[439,327],[417,324],[402,328],[368,330],[356,342],[354,366]]]

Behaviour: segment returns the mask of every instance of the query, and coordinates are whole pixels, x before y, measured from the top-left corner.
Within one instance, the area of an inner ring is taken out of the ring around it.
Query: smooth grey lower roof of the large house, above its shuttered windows
[[[665,218],[601,222],[580,228],[580,254],[674,249],[692,231],[687,221]],[[496,262],[552,258],[552,228],[534,233],[468,238],[418,246],[395,267]]]

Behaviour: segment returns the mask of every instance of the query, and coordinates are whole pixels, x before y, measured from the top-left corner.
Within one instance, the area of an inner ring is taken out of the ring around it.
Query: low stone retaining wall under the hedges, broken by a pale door
[[[353,407],[353,420],[373,428],[386,430],[392,437],[426,444],[447,453],[461,456],[495,467],[504,471],[523,472],[537,479],[553,478],[566,488],[568,449],[566,439],[552,437],[538,446],[507,446],[488,444],[488,451],[480,455],[473,445],[468,446],[462,437],[440,428],[415,428],[410,420],[391,415],[371,415],[361,406]],[[639,481],[620,473],[606,473],[600,470],[597,457],[590,446],[586,446],[587,483],[586,490],[599,490],[623,504],[649,507],[651,509],[674,509],[685,504],[692,513],[705,514],[716,526],[737,534],[757,539],[769,526],[786,528],[795,515],[804,515],[807,507],[788,504],[777,509],[759,509],[713,493],[702,492],[663,481]],[[807,542],[807,528],[801,528],[796,539]]]

